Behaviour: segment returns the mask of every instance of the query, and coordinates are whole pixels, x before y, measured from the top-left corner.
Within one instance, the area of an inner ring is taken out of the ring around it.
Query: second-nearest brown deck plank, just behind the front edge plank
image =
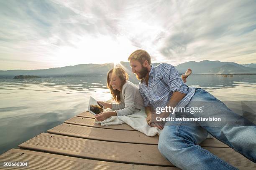
[[[119,163],[173,166],[159,153],[157,145],[116,143],[41,133],[18,147]]]

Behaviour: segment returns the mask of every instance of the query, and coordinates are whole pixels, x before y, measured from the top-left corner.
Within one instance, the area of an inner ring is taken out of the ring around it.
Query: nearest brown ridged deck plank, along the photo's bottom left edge
[[[3,170],[180,170],[174,167],[113,163],[20,149],[3,153],[0,155],[0,162],[28,162],[28,167],[1,167]]]

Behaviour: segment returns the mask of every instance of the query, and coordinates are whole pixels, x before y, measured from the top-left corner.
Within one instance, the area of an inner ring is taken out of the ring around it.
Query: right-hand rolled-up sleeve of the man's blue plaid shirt
[[[189,92],[189,87],[183,82],[180,77],[178,70],[172,65],[166,65],[166,69],[163,72],[163,79],[172,92],[181,92],[187,94]]]

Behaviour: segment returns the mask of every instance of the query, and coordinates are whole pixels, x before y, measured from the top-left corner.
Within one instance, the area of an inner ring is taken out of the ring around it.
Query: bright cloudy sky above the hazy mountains
[[[0,70],[128,62],[256,63],[255,0],[0,0]]]

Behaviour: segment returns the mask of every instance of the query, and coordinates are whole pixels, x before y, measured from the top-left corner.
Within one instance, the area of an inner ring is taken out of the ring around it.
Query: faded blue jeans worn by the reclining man
[[[169,121],[159,138],[160,153],[182,170],[237,170],[200,147],[207,133],[256,163],[256,125],[237,115],[207,91],[197,88],[186,107],[202,112],[178,112],[176,117],[220,117],[221,121]]]

